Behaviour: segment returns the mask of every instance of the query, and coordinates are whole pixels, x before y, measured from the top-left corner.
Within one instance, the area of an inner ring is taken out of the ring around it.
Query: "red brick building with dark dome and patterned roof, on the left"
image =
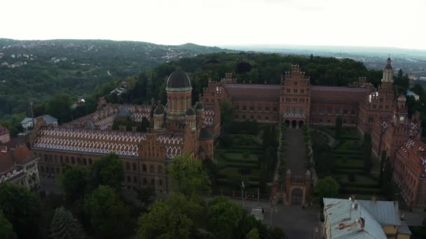
[[[157,194],[170,190],[166,167],[176,154],[207,159],[213,157],[214,132],[220,131],[219,101],[191,106],[191,81],[182,71],[167,80],[167,103],[151,106],[113,105],[104,99],[98,110],[62,126],[43,126],[38,119],[30,138],[38,157],[41,178],[57,178],[67,166],[88,167],[104,154],[115,152],[123,159],[125,187],[155,187]],[[212,95],[218,99],[219,92]],[[148,132],[112,130],[117,119],[151,122]],[[213,132],[213,133],[212,133]]]

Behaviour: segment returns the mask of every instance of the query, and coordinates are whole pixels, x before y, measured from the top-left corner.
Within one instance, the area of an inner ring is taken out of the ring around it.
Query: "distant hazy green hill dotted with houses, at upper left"
[[[0,38],[0,119],[27,111],[29,100],[46,101],[58,92],[87,96],[104,82],[170,60],[213,52],[233,51],[193,43]]]

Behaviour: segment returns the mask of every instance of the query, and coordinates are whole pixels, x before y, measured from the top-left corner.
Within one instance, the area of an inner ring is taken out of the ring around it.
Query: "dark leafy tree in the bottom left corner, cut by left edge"
[[[18,238],[34,238],[39,233],[40,205],[32,191],[19,184],[0,183],[0,208]]]

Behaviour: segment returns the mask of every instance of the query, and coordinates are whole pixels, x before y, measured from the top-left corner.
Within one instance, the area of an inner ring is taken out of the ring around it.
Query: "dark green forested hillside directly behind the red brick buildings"
[[[382,77],[382,71],[367,69],[364,64],[352,59],[315,57],[312,55],[303,57],[251,52],[219,52],[171,60],[127,78],[109,80],[97,86],[90,96],[85,97],[85,106],[78,106],[74,109],[71,109],[70,106],[75,102],[75,95],[70,95],[69,91],[53,91],[57,93],[53,96],[53,99],[36,103],[34,113],[35,115],[48,113],[57,117],[60,123],[63,123],[93,112],[100,96],[107,96],[107,100],[112,103],[149,103],[152,98],[165,103],[167,75],[170,75],[177,68],[188,73],[191,78],[192,99],[195,103],[199,100],[202,88],[207,87],[208,78],[220,80],[225,73],[233,73],[234,78],[238,78],[239,82],[245,80],[245,82],[252,81],[252,83],[260,84],[265,82],[267,84],[280,84],[282,74],[289,71],[292,64],[301,66],[306,75],[310,76],[312,85],[344,86],[356,82],[359,76],[366,76],[369,82],[377,87]],[[123,82],[126,85],[126,92],[120,96],[110,94],[113,89],[122,86]],[[408,77],[402,71],[395,75],[395,85],[401,93],[408,89]],[[426,99],[423,99],[421,87],[416,86],[415,92],[420,94],[420,99],[426,101]],[[410,112],[421,109],[422,112],[426,113],[426,108],[420,108],[420,102],[416,103],[413,99],[408,99],[407,103],[410,106]],[[16,121],[18,119],[15,120],[15,123]],[[13,128],[14,123],[10,122],[10,124]]]

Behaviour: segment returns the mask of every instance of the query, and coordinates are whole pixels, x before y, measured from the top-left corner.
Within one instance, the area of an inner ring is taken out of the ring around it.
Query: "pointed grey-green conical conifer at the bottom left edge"
[[[83,229],[77,219],[65,208],[56,208],[50,223],[50,238],[52,239],[83,239]]]

